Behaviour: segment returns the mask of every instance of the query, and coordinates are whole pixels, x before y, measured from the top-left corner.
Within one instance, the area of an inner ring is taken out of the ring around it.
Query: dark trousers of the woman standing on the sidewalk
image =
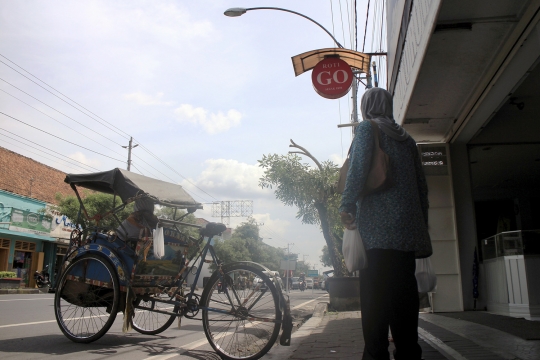
[[[397,360],[419,360],[418,288],[414,252],[372,249],[360,272],[364,360],[388,360],[388,328]]]

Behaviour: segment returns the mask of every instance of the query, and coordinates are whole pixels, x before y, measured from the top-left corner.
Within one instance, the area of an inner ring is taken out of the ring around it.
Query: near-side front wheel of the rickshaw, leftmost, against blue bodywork
[[[118,312],[120,287],[115,269],[101,254],[84,254],[58,281],[54,310],[60,330],[74,342],[102,337]]]

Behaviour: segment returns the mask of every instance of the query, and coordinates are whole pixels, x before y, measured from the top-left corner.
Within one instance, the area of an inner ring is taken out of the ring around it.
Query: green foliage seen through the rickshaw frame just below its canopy
[[[84,190],[82,198],[84,207],[86,208],[88,216],[90,217],[93,217],[97,214],[103,215],[113,209],[113,195]],[[56,200],[58,201],[58,205],[55,207],[55,210],[63,215],[66,215],[71,221],[77,221],[77,215],[79,213],[79,200],[77,199],[77,197],[75,195],[63,196],[62,194],[57,193]],[[122,200],[119,197],[116,197],[115,206],[121,204]],[[120,221],[122,221],[126,219],[132,212],[133,203],[130,203],[126,205],[124,209],[118,212],[117,216]],[[94,226],[95,222],[89,221],[88,219],[86,219],[84,214],[81,214],[80,225],[86,229],[89,226]],[[118,222],[111,215],[100,220],[99,225],[111,228],[116,228],[119,226]]]

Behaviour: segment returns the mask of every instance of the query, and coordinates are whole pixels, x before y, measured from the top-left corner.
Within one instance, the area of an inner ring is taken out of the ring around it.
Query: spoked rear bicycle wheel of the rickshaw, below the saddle
[[[224,359],[259,359],[279,334],[282,314],[277,290],[256,268],[232,265],[223,273],[225,281],[216,271],[203,290],[200,306],[206,338]],[[240,276],[262,281],[241,289],[234,286]]]

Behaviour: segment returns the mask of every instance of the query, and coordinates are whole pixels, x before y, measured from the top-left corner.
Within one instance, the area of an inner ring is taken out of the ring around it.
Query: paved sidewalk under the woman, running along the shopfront
[[[293,333],[291,346],[275,347],[263,359],[361,359],[364,341],[360,312],[327,312],[326,308],[326,303],[319,303],[313,317]],[[462,320],[460,314],[465,315],[462,317],[467,320]],[[540,322],[510,319],[517,320],[512,322],[512,328],[524,327],[520,324],[527,325],[526,334],[520,336],[482,325],[504,323],[505,319],[506,317],[483,311],[445,315],[422,313],[418,333],[423,358],[540,359]],[[511,328],[506,330],[515,333]],[[532,340],[526,340],[527,338]],[[393,349],[393,343],[390,343],[390,354]]]

